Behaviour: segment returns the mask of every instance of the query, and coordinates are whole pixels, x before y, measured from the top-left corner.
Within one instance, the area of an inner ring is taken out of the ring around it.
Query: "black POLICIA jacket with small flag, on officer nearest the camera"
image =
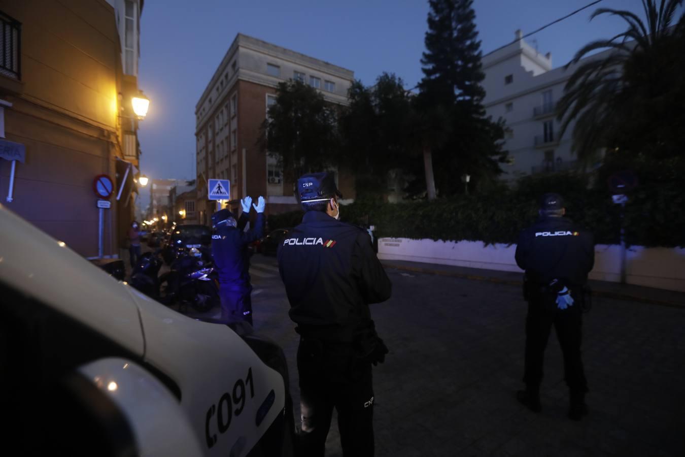
[[[370,325],[369,304],[390,298],[392,286],[369,234],[325,212],[304,214],[281,242],[278,264],[290,319],[305,332]]]

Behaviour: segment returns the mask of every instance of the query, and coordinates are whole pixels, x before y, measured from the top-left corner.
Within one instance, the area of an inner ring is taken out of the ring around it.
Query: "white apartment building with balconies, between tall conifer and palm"
[[[586,59],[603,57],[606,52]],[[575,123],[561,136],[555,113],[577,65],[553,69],[551,53],[539,53],[521,38],[521,30],[516,30],[515,42],[484,55],[482,64],[486,111],[495,120],[506,120],[503,149],[509,151],[510,163],[502,165],[502,179],[577,166],[577,155],[571,151]]]

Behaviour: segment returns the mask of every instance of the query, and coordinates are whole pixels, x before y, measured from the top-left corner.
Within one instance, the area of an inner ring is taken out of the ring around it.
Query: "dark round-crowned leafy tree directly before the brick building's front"
[[[336,164],[336,108],[300,81],[279,83],[276,103],[262,124],[262,146],[295,179]]]

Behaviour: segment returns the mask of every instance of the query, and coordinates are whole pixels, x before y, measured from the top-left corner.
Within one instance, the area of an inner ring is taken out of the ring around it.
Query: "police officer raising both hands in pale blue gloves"
[[[264,236],[264,197],[256,205],[251,197],[240,202],[242,214],[236,221],[234,214],[224,208],[212,214],[212,256],[219,273],[219,297],[221,298],[221,320],[227,322],[246,321],[252,325],[252,301],[250,293],[249,252],[247,245]],[[254,227],[248,232],[243,228],[249,221],[251,207],[257,211]]]

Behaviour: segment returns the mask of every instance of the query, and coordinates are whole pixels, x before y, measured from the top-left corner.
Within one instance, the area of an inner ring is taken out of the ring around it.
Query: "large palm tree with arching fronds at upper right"
[[[600,8],[621,17],[625,32],[588,43],[566,68],[588,53],[566,83],[557,108],[562,134],[575,121],[573,151],[588,164],[599,151],[664,156],[682,153],[685,64],[685,13],[673,25],[684,0],[643,0],[643,21],[630,11]],[[659,3],[659,5],[657,5]]]

